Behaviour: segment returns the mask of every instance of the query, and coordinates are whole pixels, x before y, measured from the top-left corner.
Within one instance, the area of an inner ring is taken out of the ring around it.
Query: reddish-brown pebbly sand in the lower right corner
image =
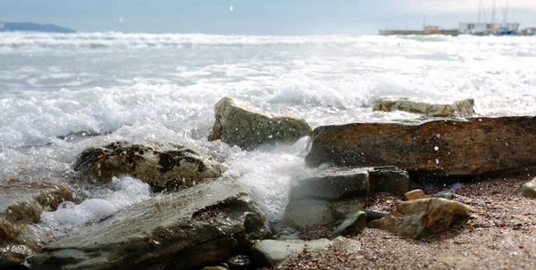
[[[331,247],[305,251],[282,269],[536,269],[536,200],[523,197],[531,176],[474,181],[454,192],[453,200],[475,210],[444,233],[407,239],[365,228],[350,236],[361,242],[355,254]],[[367,209],[389,210],[400,203],[385,193],[370,198]],[[332,226],[318,226],[305,239],[332,238]]]

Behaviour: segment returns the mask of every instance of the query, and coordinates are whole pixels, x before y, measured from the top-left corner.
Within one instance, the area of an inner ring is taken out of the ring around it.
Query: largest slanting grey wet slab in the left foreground
[[[230,179],[130,206],[46,245],[32,269],[199,269],[270,233],[251,192]]]

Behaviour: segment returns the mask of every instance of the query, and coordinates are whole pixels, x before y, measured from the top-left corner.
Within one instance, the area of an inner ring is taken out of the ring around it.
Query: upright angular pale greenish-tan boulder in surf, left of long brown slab
[[[305,119],[272,116],[247,102],[230,97],[224,97],[216,104],[215,118],[208,140],[221,140],[246,150],[263,144],[296,143],[299,138],[312,132]]]

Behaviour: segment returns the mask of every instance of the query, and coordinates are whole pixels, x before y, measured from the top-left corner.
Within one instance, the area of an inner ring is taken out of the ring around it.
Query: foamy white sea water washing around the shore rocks
[[[277,222],[307,139],[257,151],[208,142],[224,96],[312,127],[419,118],[373,111],[383,96],[533,116],[536,37],[0,33],[0,181],[70,184],[88,147],[182,143],[225,160]],[[130,176],[102,189],[45,212],[38,230],[91,225],[155,196]]]

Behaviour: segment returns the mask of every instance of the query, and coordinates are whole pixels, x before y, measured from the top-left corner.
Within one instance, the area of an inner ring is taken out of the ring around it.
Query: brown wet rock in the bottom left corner
[[[44,210],[73,200],[73,192],[63,184],[9,179],[0,181],[0,193],[0,269],[23,268],[40,250],[28,225],[37,224]]]

